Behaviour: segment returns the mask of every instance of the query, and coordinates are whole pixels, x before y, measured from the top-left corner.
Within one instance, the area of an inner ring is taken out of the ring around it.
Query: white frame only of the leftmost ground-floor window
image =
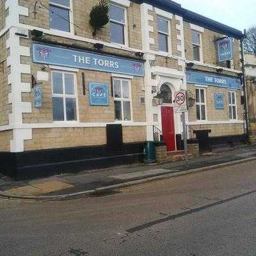
[[[54,72],[62,74],[63,93],[53,93],[53,77],[52,77],[52,74]],[[64,93],[65,92],[65,77],[64,77],[64,74],[72,74],[74,76],[74,95]],[[70,122],[77,123],[77,122],[79,122],[76,73],[65,71],[65,70],[51,70],[51,88],[52,88],[52,97],[63,98],[63,111],[64,111],[64,120],[53,120],[53,116],[52,116],[52,121],[54,123],[70,123]],[[66,104],[65,104],[66,102],[65,102],[64,98],[74,98],[74,99],[76,99],[76,120],[67,120],[67,112],[66,112]]]

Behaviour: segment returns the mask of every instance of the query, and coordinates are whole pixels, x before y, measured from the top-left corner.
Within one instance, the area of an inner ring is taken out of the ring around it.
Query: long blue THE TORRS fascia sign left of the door
[[[32,48],[33,62],[36,63],[144,76],[143,63],[140,61],[43,44],[33,44]]]

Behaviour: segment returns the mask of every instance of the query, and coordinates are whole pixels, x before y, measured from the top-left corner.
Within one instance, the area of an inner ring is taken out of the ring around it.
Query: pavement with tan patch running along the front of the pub
[[[44,179],[15,181],[0,176],[0,197],[30,200],[64,200],[88,195],[106,195],[115,189],[154,180],[170,179],[191,172],[202,172],[222,166],[253,161],[256,147],[252,145],[221,148],[184,161],[164,164],[131,164],[112,168],[56,175]]]

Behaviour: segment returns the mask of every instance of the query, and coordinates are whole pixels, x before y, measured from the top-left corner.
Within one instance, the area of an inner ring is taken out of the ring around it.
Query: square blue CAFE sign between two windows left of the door
[[[108,84],[89,83],[90,105],[108,106]]]

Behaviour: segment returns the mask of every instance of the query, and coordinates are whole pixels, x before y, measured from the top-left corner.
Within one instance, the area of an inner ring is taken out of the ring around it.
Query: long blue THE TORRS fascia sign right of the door
[[[187,83],[204,84],[230,89],[241,89],[239,78],[216,76],[209,73],[186,71]]]

